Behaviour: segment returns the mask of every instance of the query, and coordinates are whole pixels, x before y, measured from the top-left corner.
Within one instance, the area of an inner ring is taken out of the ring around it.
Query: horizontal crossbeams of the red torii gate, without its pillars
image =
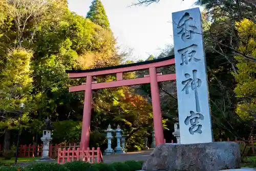
[[[150,60],[150,61],[130,63],[126,65],[106,67],[106,68],[97,68],[97,69],[90,69],[90,70],[66,70],[66,73],[69,74],[69,78],[82,78],[87,76],[116,74],[117,81],[92,83],[92,90],[96,90],[96,89],[132,86],[136,84],[150,83],[150,77],[148,76],[144,78],[123,80],[123,73],[138,71],[138,70],[145,70],[152,67],[160,68],[164,66],[174,65],[174,63],[175,63],[174,56],[169,56],[169,57],[164,57],[164,58]],[[157,75],[158,82],[175,80],[175,79],[176,79],[175,74]],[[85,88],[86,88],[85,84],[80,86],[72,86],[69,88],[69,91],[70,92],[84,91]]]

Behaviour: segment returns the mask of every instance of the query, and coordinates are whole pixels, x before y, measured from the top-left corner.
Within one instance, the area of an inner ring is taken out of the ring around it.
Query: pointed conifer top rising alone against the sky
[[[86,17],[102,28],[109,29],[110,27],[109,19],[100,0],[93,0]]]

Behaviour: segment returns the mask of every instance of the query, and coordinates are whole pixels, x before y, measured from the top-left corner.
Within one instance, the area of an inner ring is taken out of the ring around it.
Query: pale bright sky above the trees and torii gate
[[[133,49],[133,59],[157,55],[173,44],[172,12],[194,8],[196,0],[161,0],[150,6],[132,6],[137,0],[101,0],[121,50]],[[86,16],[92,0],[68,0],[69,9]]]

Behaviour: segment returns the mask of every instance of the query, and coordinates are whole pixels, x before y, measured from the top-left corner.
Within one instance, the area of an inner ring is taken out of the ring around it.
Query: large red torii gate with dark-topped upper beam
[[[90,122],[92,111],[92,91],[97,89],[114,88],[122,86],[132,86],[137,84],[150,83],[151,96],[153,106],[153,119],[154,119],[154,131],[156,145],[164,143],[163,126],[162,126],[162,114],[160,107],[160,97],[158,92],[158,82],[176,80],[176,74],[158,74],[157,68],[170,66],[175,64],[174,56],[160,58],[156,60],[131,63],[126,65],[97,68],[90,70],[66,70],[69,74],[69,78],[82,78],[86,77],[86,84],[80,86],[72,86],[69,88],[69,92],[86,91],[84,96],[83,105],[83,118],[82,118],[82,133],[80,147],[89,147],[90,139]],[[124,72],[132,72],[138,70],[150,70],[150,75],[145,75],[144,78],[135,79],[123,79]],[[93,77],[99,75],[116,74],[116,81],[111,82],[93,82]]]

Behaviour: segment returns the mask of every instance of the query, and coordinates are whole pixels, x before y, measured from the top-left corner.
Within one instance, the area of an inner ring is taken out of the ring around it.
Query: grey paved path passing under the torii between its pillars
[[[153,152],[153,149],[148,149],[145,151],[131,152],[131,153],[126,153],[126,154],[104,155],[103,162],[104,163],[112,163],[112,162],[123,162],[126,160],[146,161],[146,159],[152,152]]]

